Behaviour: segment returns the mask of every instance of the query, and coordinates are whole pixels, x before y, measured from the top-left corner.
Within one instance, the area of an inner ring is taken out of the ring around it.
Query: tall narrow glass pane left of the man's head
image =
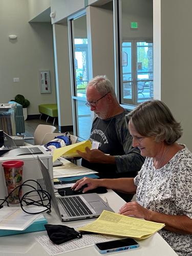
[[[86,140],[89,139],[92,124],[91,111],[86,106],[86,87],[89,81],[86,14],[83,12],[70,17],[68,25],[74,135],[80,140]]]

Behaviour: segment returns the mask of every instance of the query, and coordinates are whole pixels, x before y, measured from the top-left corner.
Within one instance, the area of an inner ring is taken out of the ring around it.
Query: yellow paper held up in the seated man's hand
[[[86,140],[86,141],[82,141],[82,142],[78,142],[69,146],[63,146],[60,148],[56,148],[56,150],[54,150],[53,152],[53,162],[59,158],[60,156],[63,157],[79,157],[79,155],[77,154],[77,150],[81,151],[81,152],[86,152],[86,147],[91,148],[91,141],[90,140]]]

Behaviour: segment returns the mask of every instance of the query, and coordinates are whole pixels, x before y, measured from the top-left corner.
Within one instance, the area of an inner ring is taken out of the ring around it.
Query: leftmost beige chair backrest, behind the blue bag
[[[39,124],[36,127],[36,130],[34,132],[34,144],[41,145],[45,134],[54,133],[55,130],[56,130],[56,127],[53,125]]]

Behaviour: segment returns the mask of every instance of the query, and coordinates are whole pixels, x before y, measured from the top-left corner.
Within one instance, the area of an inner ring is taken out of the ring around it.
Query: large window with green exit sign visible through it
[[[114,0],[114,11],[116,91],[133,109],[154,95],[153,0]]]

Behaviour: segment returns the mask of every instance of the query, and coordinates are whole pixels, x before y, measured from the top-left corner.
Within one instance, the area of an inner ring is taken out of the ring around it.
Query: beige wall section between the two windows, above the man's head
[[[90,78],[106,75],[115,86],[113,11],[89,6],[87,28]]]

